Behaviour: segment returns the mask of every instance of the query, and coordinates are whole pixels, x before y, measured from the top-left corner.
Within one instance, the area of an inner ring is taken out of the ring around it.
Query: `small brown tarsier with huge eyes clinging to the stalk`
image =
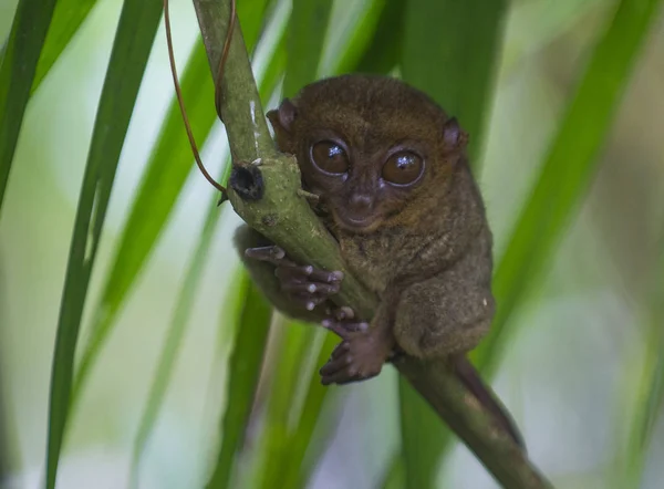
[[[465,357],[495,303],[491,232],[457,121],[398,80],[365,75],[312,83],[268,117],[278,148],[297,157],[302,188],[318,196],[311,206],[347,270],[380,298],[374,318],[355,318],[330,300],[341,272],[295,264],[240,228],[236,243],[274,306],[341,336],[322,383],[373,377],[394,355],[447,357],[519,441]]]

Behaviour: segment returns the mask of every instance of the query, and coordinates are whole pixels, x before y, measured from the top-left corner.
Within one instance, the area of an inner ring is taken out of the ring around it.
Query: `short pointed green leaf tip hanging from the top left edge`
[[[53,12],[46,41],[39,56],[31,93],[37,92],[49,71],[60,58],[97,0],[59,0]]]

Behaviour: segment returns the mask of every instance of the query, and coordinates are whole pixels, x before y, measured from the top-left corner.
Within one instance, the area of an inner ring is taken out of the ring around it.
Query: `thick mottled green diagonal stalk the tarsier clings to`
[[[230,3],[231,0],[194,0],[215,79],[229,23]],[[342,270],[345,278],[340,302],[351,305],[363,318],[372,318],[376,298],[345,269],[336,242],[298,193],[300,171],[295,159],[274,149],[238,24],[220,86],[221,118],[234,157],[235,178],[231,177],[228,189],[234,209],[249,226],[283,247],[299,262]],[[248,195],[251,193],[247,190],[259,187],[262,195]],[[551,488],[444,361],[423,362],[404,356],[395,367],[504,487]]]

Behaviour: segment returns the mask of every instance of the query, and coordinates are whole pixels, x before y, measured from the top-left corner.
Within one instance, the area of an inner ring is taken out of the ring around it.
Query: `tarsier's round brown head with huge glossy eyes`
[[[295,155],[304,187],[353,232],[398,223],[411,205],[444,191],[467,143],[456,119],[388,77],[322,80],[268,117],[279,149]]]

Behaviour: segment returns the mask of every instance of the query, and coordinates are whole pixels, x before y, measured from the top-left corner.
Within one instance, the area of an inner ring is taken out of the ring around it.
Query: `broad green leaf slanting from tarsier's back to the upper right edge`
[[[622,0],[594,49],[496,270],[498,312],[489,336],[473,355],[489,374],[507,322],[528,290],[541,280],[595,174],[598,154],[661,3]]]

